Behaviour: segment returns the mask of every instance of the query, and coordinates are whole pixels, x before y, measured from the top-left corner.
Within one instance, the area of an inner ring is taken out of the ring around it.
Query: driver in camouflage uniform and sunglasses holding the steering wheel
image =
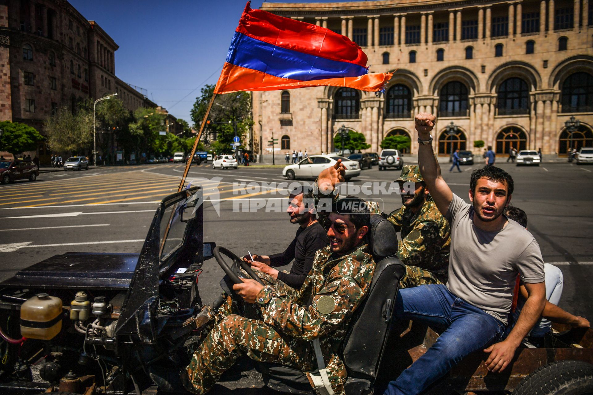
[[[329,172],[334,178],[341,176],[343,181],[343,174],[336,169],[328,170],[326,176],[330,176]],[[316,387],[321,380],[321,386],[345,394],[347,372],[339,348],[375,270],[365,243],[369,211],[366,206],[352,205],[353,201],[361,202],[349,197],[337,201],[324,221],[329,225],[330,245],[317,251],[313,268],[300,290],[263,273],[258,275],[265,286],[251,279],[233,285],[244,300],[240,303],[244,305],[243,314],[238,315],[238,303],[227,298],[216,313],[213,329],[193,354],[187,374],[182,372],[187,390],[196,394],[207,392],[239,355],[247,355],[256,361],[307,372],[318,393],[321,390]],[[320,346],[326,370],[315,362],[316,346]],[[309,372],[315,367],[323,370],[318,377]]]

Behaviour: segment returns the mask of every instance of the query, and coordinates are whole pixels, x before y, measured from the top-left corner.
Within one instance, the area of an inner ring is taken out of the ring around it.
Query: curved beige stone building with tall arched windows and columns
[[[364,133],[369,151],[403,134],[417,152],[413,117],[437,116],[434,148],[566,155],[593,146],[591,0],[379,0],[270,3],[261,9],[329,28],[368,55],[369,72],[393,72],[384,95],[319,87],[253,92],[254,132],[268,160],[280,152],[334,150],[337,130]],[[577,131],[565,121],[581,121]],[[447,133],[454,123],[457,130]]]

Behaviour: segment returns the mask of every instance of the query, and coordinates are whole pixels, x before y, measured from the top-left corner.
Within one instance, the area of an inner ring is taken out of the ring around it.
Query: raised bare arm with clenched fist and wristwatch
[[[415,117],[416,130],[420,140],[428,140],[432,128],[435,126],[435,116],[428,113],[419,113]],[[447,214],[449,204],[453,199],[453,192],[447,185],[447,182],[442,178],[441,166],[436,160],[432,144],[418,145],[418,165],[420,166],[420,174],[431,191],[432,199],[435,201],[436,207],[441,211],[441,214]]]

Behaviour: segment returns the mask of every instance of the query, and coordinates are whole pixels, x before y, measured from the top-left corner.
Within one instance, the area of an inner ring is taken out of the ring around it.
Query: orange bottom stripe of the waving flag
[[[377,92],[387,84],[391,73],[369,73],[359,77],[314,79],[298,81],[279,78],[258,70],[246,69],[225,63],[214,93],[225,94],[239,91],[278,91],[279,89],[305,88],[306,86],[345,86],[360,91]]]

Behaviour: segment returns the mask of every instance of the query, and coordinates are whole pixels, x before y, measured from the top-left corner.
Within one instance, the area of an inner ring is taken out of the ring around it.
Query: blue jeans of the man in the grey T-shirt
[[[422,393],[466,355],[498,342],[505,330],[502,322],[456,297],[441,284],[399,290],[396,319],[412,319],[447,330],[426,354],[389,383],[384,395]]]

